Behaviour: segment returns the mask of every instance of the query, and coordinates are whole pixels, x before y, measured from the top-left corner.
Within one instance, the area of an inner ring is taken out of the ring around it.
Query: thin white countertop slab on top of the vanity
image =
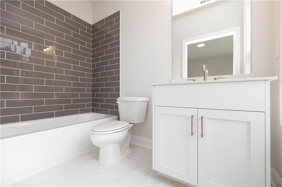
[[[186,81],[186,82],[173,82],[173,83],[154,83],[152,86],[157,85],[170,85],[170,84],[199,84],[199,83],[223,83],[223,82],[240,82],[240,81],[258,81],[258,80],[276,80],[277,77],[254,77],[254,78],[241,78],[241,79],[218,79],[218,80],[200,80],[200,81]]]

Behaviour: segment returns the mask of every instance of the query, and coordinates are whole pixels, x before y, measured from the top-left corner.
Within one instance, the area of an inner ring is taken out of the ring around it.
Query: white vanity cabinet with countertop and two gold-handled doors
[[[152,84],[153,169],[190,186],[270,186],[275,79]]]

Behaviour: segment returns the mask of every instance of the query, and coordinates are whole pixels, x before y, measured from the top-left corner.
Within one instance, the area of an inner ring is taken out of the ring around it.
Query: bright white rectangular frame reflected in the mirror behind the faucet
[[[240,74],[240,26],[182,40],[182,78],[187,78],[187,46],[233,35],[233,74]]]

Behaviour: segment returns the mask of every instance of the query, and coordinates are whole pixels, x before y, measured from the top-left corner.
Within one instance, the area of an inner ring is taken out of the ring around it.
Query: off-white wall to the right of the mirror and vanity
[[[279,1],[252,1],[252,73],[278,76],[280,59],[274,59],[279,41]],[[280,33],[281,35],[281,33]],[[280,36],[281,37],[281,36]],[[281,39],[280,39],[281,40]],[[271,82],[271,167],[282,177],[282,128],[279,125],[279,79]]]

